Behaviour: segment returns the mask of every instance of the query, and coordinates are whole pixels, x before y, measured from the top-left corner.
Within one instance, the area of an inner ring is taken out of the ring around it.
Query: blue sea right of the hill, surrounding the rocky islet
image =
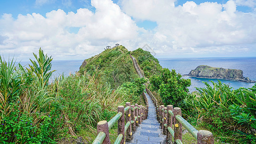
[[[256,81],[256,57],[239,57],[239,58],[159,58],[159,63],[163,68],[174,69],[176,72],[184,75],[194,70],[199,65],[208,65],[211,67],[221,67],[225,69],[239,69],[244,72],[244,77]],[[195,91],[195,87],[205,87],[203,82],[213,81],[218,83],[218,79],[195,78],[183,76],[191,79],[190,92]],[[234,80],[219,79],[221,83],[228,84],[234,89],[239,87],[250,88],[254,83],[245,83]],[[212,85],[212,84],[211,84]]]

